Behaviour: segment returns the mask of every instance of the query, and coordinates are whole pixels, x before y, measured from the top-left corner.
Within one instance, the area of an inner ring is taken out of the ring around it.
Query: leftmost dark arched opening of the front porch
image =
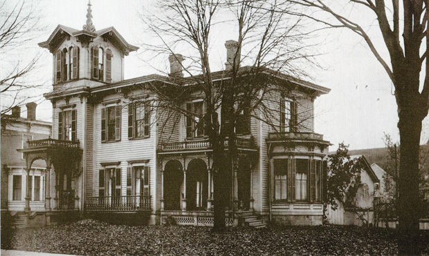
[[[180,161],[167,161],[164,168],[164,209],[181,209],[181,185],[183,183],[183,167]]]

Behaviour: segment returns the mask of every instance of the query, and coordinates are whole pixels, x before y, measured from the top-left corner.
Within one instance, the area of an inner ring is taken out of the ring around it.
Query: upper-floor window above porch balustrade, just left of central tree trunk
[[[186,137],[204,137],[204,101],[196,101],[186,104]]]

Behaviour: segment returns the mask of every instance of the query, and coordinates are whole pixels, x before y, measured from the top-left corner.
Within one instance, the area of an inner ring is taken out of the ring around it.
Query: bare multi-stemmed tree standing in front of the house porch
[[[170,129],[179,125],[179,117],[189,117],[194,129],[204,130],[212,148],[214,178],[214,214],[216,231],[223,230],[225,207],[230,191],[231,166],[237,159],[237,128],[247,119],[259,119],[280,131],[280,95],[302,97],[294,85],[294,77],[306,75],[301,61],[311,60],[300,32],[300,19],[289,19],[275,12],[277,1],[168,0],[159,3],[157,13],[143,18],[161,41],[145,47],[156,55],[168,54],[186,77],[170,74],[171,84],[152,85],[158,117],[168,120]],[[282,8],[288,8],[286,4]],[[227,14],[226,14],[227,13]],[[226,70],[213,72],[210,66],[210,40],[217,26],[232,23],[237,29],[233,55],[227,59]],[[176,55],[177,49],[185,49]],[[302,81],[300,81],[302,82]],[[198,92],[198,95],[195,93]],[[203,99],[205,114],[183,108],[190,95]],[[300,108],[305,118],[291,120],[291,128],[304,129],[312,110]],[[193,118],[193,117],[198,117]],[[294,115],[296,116],[296,115]],[[164,126],[161,120],[161,129]],[[160,121],[158,121],[160,124]]]

